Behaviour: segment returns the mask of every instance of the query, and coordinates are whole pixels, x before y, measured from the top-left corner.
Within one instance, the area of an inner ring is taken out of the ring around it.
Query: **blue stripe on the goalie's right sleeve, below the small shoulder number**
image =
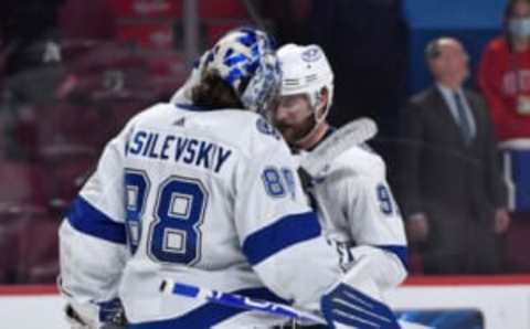
[[[243,243],[243,252],[252,265],[259,264],[277,252],[320,235],[315,212],[287,215],[252,233]]]

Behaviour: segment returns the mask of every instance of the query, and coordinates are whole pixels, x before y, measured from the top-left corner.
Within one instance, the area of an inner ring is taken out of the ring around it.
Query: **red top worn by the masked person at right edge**
[[[530,115],[517,112],[519,96],[530,99],[530,49],[510,54],[505,38],[490,41],[478,67],[478,85],[488,102],[499,140],[530,138]]]

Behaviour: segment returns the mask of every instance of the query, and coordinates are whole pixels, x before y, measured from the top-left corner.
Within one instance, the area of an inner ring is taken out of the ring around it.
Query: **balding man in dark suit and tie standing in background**
[[[463,88],[468,57],[457,40],[434,40],[425,53],[435,84],[403,116],[409,238],[421,246],[425,273],[497,273],[510,217],[488,109]]]

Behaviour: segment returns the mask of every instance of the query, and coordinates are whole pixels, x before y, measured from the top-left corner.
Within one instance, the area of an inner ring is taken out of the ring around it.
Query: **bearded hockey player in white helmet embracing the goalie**
[[[333,73],[317,45],[287,44],[277,55],[283,84],[273,121],[294,152],[303,157],[333,134],[335,128],[326,121]],[[371,297],[380,299],[380,293],[406,276],[405,233],[385,164],[365,146],[352,146],[329,164],[320,177],[312,178],[310,197],[327,237],[351,252],[353,270],[361,264],[368,268],[364,275],[377,287]],[[364,261],[358,262],[361,258]]]

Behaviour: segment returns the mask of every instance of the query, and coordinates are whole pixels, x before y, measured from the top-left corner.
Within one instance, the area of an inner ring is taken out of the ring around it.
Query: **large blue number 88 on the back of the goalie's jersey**
[[[135,253],[141,234],[141,215],[149,194],[145,172],[126,171],[127,235]],[[136,193],[130,191],[141,191]],[[132,198],[131,198],[132,197]],[[136,197],[136,198],[135,198]],[[192,265],[201,257],[201,231],[208,203],[208,192],[198,180],[170,177],[158,189],[153,219],[147,235],[147,254],[156,262]],[[137,234],[134,234],[138,232]]]

